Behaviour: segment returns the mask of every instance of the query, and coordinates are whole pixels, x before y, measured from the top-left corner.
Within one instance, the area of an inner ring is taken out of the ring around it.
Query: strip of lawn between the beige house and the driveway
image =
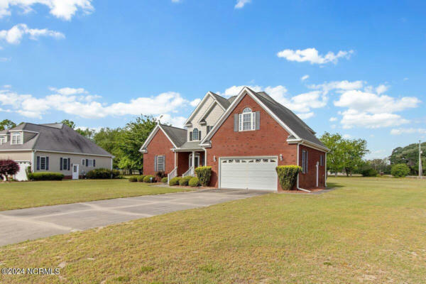
[[[126,179],[0,183],[0,211],[185,190],[190,189],[151,187]]]

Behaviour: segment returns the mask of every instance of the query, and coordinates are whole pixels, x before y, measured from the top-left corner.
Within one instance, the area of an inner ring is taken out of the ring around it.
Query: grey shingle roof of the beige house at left
[[[28,131],[33,133],[33,136],[21,145],[4,143],[0,145],[0,151],[37,150],[112,157],[110,153],[97,146],[89,138],[82,136],[65,124],[24,123],[9,129],[8,132],[13,131]]]

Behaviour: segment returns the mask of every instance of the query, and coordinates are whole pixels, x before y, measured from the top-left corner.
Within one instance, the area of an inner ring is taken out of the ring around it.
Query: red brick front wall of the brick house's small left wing
[[[148,153],[143,154],[143,175],[155,175],[155,155],[165,155],[165,173],[170,173],[175,168],[175,153],[171,148],[173,144],[159,129],[146,147]]]

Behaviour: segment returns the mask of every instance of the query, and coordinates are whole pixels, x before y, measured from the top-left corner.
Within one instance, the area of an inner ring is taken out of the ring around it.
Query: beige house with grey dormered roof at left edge
[[[62,173],[79,179],[95,168],[112,168],[110,153],[65,124],[29,124],[0,132],[0,159],[15,160],[16,180],[26,180],[26,168],[33,173]]]

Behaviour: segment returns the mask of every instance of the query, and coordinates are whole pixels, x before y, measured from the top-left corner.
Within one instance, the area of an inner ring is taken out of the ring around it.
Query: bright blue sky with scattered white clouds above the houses
[[[0,118],[181,126],[265,90],[369,158],[426,138],[425,1],[1,0]]]

